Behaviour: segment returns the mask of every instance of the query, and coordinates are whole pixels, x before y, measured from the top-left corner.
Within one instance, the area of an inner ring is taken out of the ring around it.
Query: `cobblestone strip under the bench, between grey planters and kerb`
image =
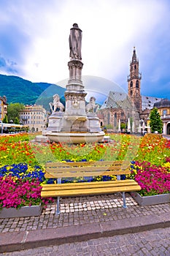
[[[122,207],[120,194],[63,198],[59,217],[55,215],[56,205],[50,205],[43,210],[40,217],[0,219],[0,233],[109,222],[155,214],[161,216],[170,212],[169,203],[142,207],[128,194],[126,201],[128,208]]]

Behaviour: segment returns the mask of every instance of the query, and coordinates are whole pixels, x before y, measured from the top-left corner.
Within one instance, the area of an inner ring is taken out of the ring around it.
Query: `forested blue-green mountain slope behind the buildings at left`
[[[53,95],[63,97],[64,89],[51,83],[32,83],[15,75],[0,75],[0,96],[7,97],[7,103],[20,102],[24,105],[40,104],[49,110]]]

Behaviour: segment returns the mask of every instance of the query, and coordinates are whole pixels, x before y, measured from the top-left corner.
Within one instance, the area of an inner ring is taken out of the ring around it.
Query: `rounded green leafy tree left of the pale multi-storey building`
[[[20,111],[24,109],[24,105],[21,103],[11,103],[7,108],[7,116],[9,121],[15,122],[15,118],[20,119]]]

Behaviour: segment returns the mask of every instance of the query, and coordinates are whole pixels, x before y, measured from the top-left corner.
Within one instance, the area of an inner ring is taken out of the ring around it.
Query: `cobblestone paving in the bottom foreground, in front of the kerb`
[[[169,256],[170,227],[141,233],[91,239],[60,246],[39,247],[1,256]]]

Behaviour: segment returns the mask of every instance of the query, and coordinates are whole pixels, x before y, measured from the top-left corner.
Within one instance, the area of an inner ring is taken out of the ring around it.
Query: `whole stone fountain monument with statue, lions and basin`
[[[69,81],[64,94],[66,107],[64,109],[58,94],[55,94],[53,102],[50,102],[52,113],[46,135],[50,141],[61,143],[98,142],[104,138],[104,132],[96,115],[96,99],[90,97],[90,102],[85,105],[87,93],[82,84],[82,30],[77,23],[70,29],[69,48]]]

